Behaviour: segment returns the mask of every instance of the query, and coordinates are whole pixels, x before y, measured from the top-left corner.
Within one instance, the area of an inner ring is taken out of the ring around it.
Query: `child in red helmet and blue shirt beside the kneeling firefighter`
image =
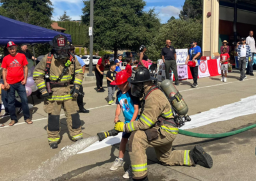
[[[125,124],[138,120],[140,100],[131,94],[131,87],[127,82],[129,75],[127,71],[123,70],[117,73],[116,80],[111,82],[111,85],[117,85],[120,91],[116,93],[116,115],[114,122],[119,121],[119,115],[123,110]],[[131,133],[123,133],[122,140],[119,147],[119,157],[116,158],[115,163],[110,170],[117,170],[124,163],[125,146]],[[125,172],[124,178],[131,178],[131,168]]]

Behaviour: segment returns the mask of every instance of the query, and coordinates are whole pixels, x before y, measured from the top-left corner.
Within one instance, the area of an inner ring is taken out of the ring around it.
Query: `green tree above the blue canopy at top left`
[[[51,27],[50,0],[0,0],[0,15],[28,24]]]

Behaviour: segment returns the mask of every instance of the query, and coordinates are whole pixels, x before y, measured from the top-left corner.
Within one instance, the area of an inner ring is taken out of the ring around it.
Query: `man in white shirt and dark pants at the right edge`
[[[247,69],[246,69],[246,75],[253,75],[253,57],[256,54],[256,48],[255,48],[255,40],[253,38],[253,31],[250,31],[249,36],[246,38],[246,44],[250,46],[251,52],[252,52],[252,59],[248,62]]]

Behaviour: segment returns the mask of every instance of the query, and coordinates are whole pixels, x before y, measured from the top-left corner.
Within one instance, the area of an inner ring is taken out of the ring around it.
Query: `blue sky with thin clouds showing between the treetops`
[[[63,15],[64,11],[67,11],[67,15],[72,20],[80,20],[82,15],[82,8],[84,6],[82,0],[51,0],[54,8],[53,20],[58,20],[60,15]],[[184,4],[185,0],[144,0],[147,5],[145,11],[155,8],[159,13],[159,18],[162,23],[166,23],[170,17],[179,17],[179,12]]]

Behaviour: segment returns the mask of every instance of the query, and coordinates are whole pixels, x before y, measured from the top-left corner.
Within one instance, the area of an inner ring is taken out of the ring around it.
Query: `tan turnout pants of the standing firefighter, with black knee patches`
[[[76,141],[83,137],[81,129],[81,120],[77,113],[76,99],[68,99],[67,101],[48,101],[45,98],[44,111],[48,113],[48,141],[49,143],[58,142],[60,140],[60,111],[63,106],[67,126],[72,140]]]

